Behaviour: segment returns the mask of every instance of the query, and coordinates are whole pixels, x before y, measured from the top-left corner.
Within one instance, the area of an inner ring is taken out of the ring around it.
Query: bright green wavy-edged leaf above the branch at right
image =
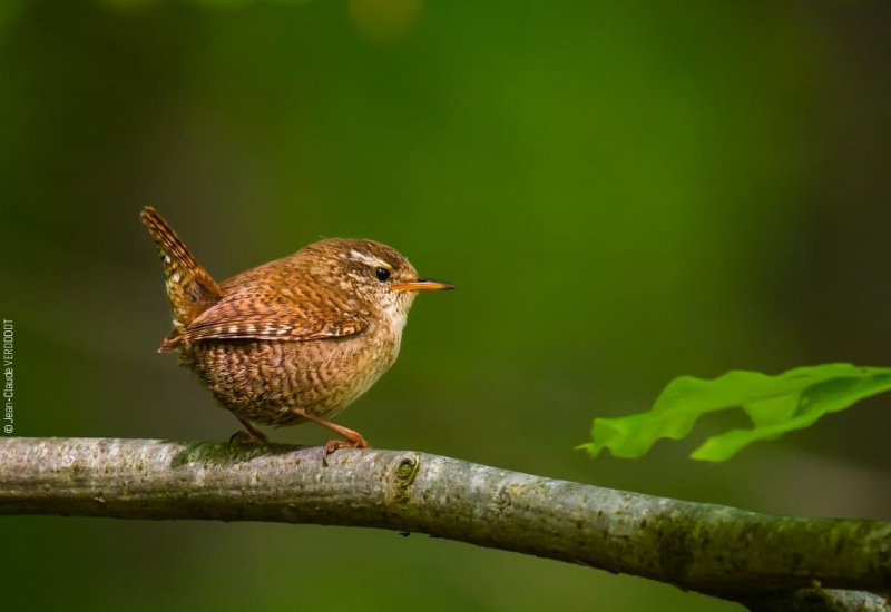
[[[802,430],[826,413],[889,389],[891,368],[851,364],[799,367],[779,376],[743,371],[713,381],[681,376],[665,387],[649,412],[595,418],[591,442],[577,448],[591,457],[604,448],[618,457],[639,457],[659,438],[689,435],[699,416],[740,406],[753,427],[709,437],[691,455],[701,461],[726,461],[755,441]]]

